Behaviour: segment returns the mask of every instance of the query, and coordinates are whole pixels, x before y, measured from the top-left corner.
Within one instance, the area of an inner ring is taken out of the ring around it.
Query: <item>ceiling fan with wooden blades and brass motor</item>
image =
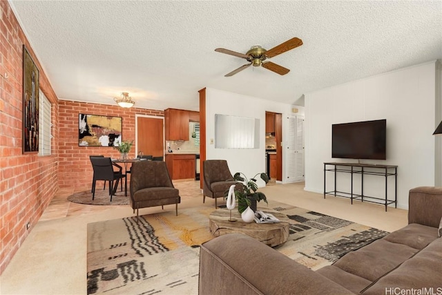
[[[284,68],[278,64],[274,64],[271,61],[265,61],[268,58],[276,57],[276,55],[280,55],[281,53],[285,53],[291,49],[294,49],[298,46],[302,45],[302,40],[299,38],[292,38],[290,40],[285,41],[278,46],[271,48],[270,50],[265,50],[261,46],[252,46],[249,51],[244,55],[243,53],[236,53],[235,51],[224,49],[224,48],[216,48],[215,51],[218,53],[225,53],[227,55],[233,55],[236,57],[242,57],[243,59],[247,59],[250,64],[244,64],[244,66],[240,66],[236,70],[231,71],[229,74],[224,75],[224,77],[231,77],[236,73],[239,73],[244,68],[248,68],[249,66],[262,66],[263,68],[267,68],[267,70],[271,70],[279,75],[285,75],[289,73],[288,68]]]

